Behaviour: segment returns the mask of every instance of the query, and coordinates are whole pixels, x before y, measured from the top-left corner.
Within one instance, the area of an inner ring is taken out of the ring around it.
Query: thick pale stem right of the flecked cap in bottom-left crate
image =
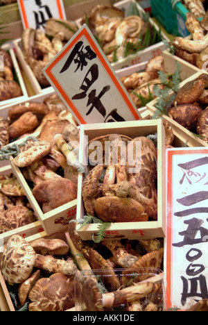
[[[74,276],[78,269],[72,261],[58,260],[53,256],[36,255],[35,267],[52,273],[62,273],[67,276]]]

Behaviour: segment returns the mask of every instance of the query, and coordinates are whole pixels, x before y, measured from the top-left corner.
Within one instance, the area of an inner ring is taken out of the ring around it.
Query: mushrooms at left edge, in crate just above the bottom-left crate
[[[24,190],[13,174],[0,176],[0,234],[26,226],[37,219]]]

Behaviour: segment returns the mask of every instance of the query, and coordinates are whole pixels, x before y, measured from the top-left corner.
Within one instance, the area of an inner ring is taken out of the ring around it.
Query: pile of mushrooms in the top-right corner
[[[207,70],[208,12],[201,21],[192,12],[187,12],[186,26],[191,35],[187,38],[176,37],[173,39],[175,55],[199,69]]]

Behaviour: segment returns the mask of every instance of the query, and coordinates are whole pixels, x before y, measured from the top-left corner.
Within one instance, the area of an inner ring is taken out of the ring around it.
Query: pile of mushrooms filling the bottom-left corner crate
[[[28,243],[13,235],[3,247],[1,272],[17,286],[20,307],[29,311],[64,311],[74,306],[74,277],[78,269],[63,240]]]

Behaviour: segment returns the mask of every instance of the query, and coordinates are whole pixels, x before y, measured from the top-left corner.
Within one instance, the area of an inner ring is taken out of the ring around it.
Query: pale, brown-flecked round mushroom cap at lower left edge
[[[3,247],[1,272],[10,283],[27,280],[35,265],[36,253],[20,235],[13,235]]]

